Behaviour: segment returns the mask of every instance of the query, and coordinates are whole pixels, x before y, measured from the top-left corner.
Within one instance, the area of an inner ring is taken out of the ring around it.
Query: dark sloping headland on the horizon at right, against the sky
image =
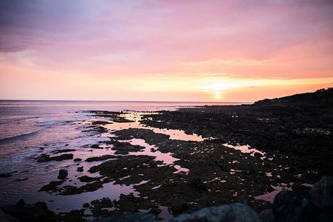
[[[316,105],[333,107],[333,87],[318,89],[316,92],[295,94],[275,99],[263,99],[255,102],[255,105]]]

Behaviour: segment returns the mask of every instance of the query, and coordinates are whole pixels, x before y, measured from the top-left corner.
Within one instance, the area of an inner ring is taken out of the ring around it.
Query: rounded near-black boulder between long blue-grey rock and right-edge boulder
[[[273,213],[279,222],[316,221],[318,208],[305,196],[284,190],[275,196]]]

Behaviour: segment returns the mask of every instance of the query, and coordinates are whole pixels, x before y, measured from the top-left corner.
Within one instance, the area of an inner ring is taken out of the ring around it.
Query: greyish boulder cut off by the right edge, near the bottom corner
[[[319,207],[333,208],[333,178],[323,176],[310,190],[311,200]]]

